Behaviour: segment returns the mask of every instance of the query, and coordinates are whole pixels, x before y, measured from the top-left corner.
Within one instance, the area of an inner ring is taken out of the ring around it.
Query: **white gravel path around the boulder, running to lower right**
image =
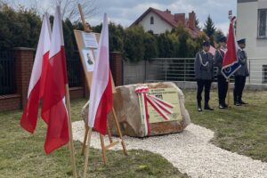
[[[74,140],[83,142],[84,121],[72,124]],[[125,137],[127,150],[142,149],[158,153],[191,177],[267,178],[267,163],[220,149],[209,141],[214,132],[190,124],[181,134],[168,134],[145,139]],[[108,142],[108,139],[106,139]],[[91,146],[100,149],[99,134],[93,133]],[[114,148],[121,150],[121,145]]]

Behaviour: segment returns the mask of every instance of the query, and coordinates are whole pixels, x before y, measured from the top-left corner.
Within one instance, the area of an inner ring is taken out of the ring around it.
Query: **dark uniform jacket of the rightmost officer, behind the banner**
[[[239,68],[235,75],[236,76],[249,76],[248,69],[247,69],[247,53],[244,50],[238,50],[238,59],[239,63],[241,64],[241,68]]]

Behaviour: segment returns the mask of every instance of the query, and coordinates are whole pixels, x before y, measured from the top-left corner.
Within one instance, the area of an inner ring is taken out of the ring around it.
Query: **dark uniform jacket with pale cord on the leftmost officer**
[[[198,52],[194,67],[197,80],[212,80],[214,78],[214,60],[211,53]]]

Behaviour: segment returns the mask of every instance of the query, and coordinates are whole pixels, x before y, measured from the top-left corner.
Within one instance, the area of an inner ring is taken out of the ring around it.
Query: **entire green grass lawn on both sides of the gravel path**
[[[199,113],[196,92],[184,91],[186,108],[194,124],[214,131],[212,142],[232,152],[267,161],[267,92],[245,92],[247,106],[218,109],[217,93],[211,94],[214,111]],[[72,101],[72,120],[80,120],[86,100]],[[39,119],[36,134],[20,128],[21,110],[0,113],[0,177],[70,177],[67,146],[45,155],[43,145],[46,125]],[[77,174],[83,174],[81,143],[75,142]],[[158,154],[144,150],[108,151],[108,165],[103,166],[101,150],[91,150],[88,175],[91,177],[188,177]]]

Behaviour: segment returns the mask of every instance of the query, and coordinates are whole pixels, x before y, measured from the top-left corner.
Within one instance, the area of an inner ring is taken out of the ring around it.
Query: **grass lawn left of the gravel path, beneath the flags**
[[[72,120],[80,120],[85,100],[72,101]],[[44,152],[46,125],[39,119],[35,134],[20,128],[21,110],[0,113],[0,177],[71,177],[67,146],[51,155]],[[82,177],[84,158],[81,142],[75,142],[77,174]],[[188,177],[181,174],[166,158],[144,150],[108,151],[108,165],[104,166],[101,150],[90,150],[88,177]]]

